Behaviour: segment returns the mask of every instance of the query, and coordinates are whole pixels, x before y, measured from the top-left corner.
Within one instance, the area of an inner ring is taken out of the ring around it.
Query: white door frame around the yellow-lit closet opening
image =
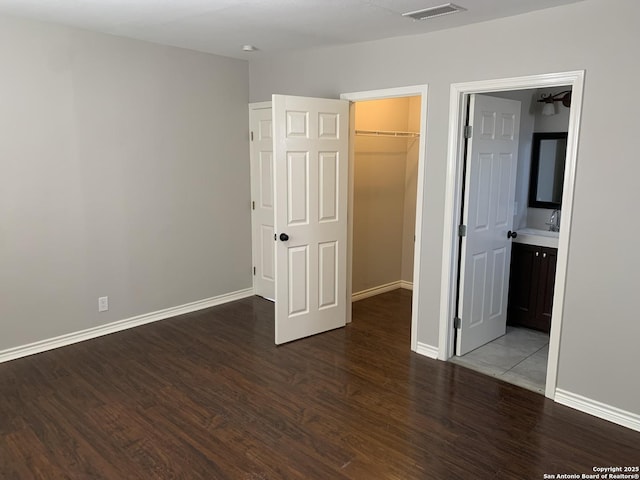
[[[368,90],[363,92],[343,93],[340,95],[342,100],[351,102],[364,100],[382,100],[385,98],[413,97],[420,95],[420,138],[418,151],[418,185],[416,195],[416,225],[415,225],[415,241],[413,253],[413,298],[411,304],[411,350],[418,350],[418,312],[420,308],[420,255],[422,250],[422,205],[424,203],[424,180],[425,180],[425,154],[427,145],[427,85],[413,85],[409,87],[385,88],[381,90]],[[348,226],[347,226],[347,323],[351,321],[351,294],[353,281],[353,173],[354,173],[354,148],[353,145],[353,124],[354,124],[353,108],[351,109],[351,131],[349,142],[349,210],[348,210]]]

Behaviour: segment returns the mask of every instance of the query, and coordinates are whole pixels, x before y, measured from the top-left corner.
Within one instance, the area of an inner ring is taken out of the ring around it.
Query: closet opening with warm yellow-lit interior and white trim
[[[396,289],[414,290],[411,349],[417,351],[415,290],[426,87],[345,94],[342,98],[352,101],[349,295],[356,302]]]

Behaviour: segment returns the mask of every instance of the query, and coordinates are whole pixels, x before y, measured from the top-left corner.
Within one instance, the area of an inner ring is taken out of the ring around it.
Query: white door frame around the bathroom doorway
[[[573,195],[575,189],[578,157],[578,136],[584,89],[584,70],[560,73],[530,75],[525,77],[484,80],[478,82],[454,83],[451,85],[449,103],[449,147],[447,155],[447,183],[445,197],[445,224],[442,248],[442,281],[440,297],[440,325],[438,358],[448,360],[453,356],[457,278],[458,278],[458,234],[460,224],[462,167],[464,155],[463,129],[466,118],[466,97],[472,93],[490,93],[505,90],[525,90],[542,87],[571,85],[571,110],[567,138],[567,159],[565,163],[562,193],[562,216],[558,241],[558,262],[556,268],[555,293],[553,296],[549,357],[547,361],[547,381],[545,396],[554,399],[558,376],[558,357],[564,296],[566,291],[569,239],[573,217]]]

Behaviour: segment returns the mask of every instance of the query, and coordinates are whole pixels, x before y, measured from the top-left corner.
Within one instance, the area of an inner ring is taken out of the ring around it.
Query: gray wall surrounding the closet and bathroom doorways
[[[640,413],[631,380],[640,364],[640,259],[610,228],[640,233],[629,223],[640,203],[640,97],[611,99],[622,79],[640,74],[639,17],[636,0],[586,0],[428,35],[256,57],[251,100],[429,84],[417,334],[437,345],[451,83],[585,69],[558,387]]]

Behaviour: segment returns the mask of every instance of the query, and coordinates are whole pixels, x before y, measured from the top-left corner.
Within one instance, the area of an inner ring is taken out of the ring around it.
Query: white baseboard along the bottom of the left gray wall
[[[158,310],[157,312],[144,313],[124,320],[117,320],[115,322],[107,323],[106,325],[99,325],[97,327],[87,328],[86,330],[67,333],[66,335],[60,335],[59,337],[40,340],[28,345],[9,348],[7,350],[0,351],[0,363],[15,360],[16,358],[26,357],[35,353],[45,352],[47,350],[53,350],[54,348],[64,347],[65,345],[71,345],[72,343],[90,340],[103,335],[109,335],[110,333],[120,332],[122,330],[138,327],[147,323],[165,320],[177,315],[184,315],[185,313],[191,313],[197,310],[221,305],[223,303],[233,302],[234,300],[240,300],[241,298],[250,297],[252,295],[253,288],[246,288],[244,290],[238,290],[236,292],[226,293],[216,297],[205,298],[204,300],[186,303],[177,307],[165,308],[164,310]]]

